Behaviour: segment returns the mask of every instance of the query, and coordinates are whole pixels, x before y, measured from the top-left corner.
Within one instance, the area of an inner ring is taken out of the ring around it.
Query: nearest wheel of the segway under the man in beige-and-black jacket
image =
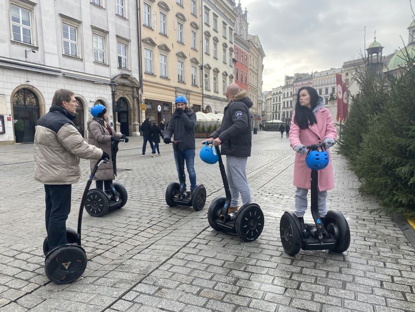
[[[78,245],[65,245],[53,250],[45,260],[46,276],[55,284],[70,284],[85,272],[87,256]]]

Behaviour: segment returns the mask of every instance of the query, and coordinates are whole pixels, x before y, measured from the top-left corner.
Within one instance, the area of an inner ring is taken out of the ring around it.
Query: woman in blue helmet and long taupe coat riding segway
[[[103,151],[107,152],[109,154],[110,159],[108,163],[102,163],[99,166],[95,174],[95,185],[96,188],[100,190],[102,190],[104,186],[104,190],[107,193],[110,192],[111,182],[113,179],[115,179],[115,176],[117,175],[111,161],[111,142],[118,143],[121,141],[121,139],[125,139],[125,142],[128,142],[128,138],[126,138],[122,133],[116,133],[114,129],[111,128],[108,122],[107,110],[104,105],[94,105],[91,108],[91,115],[93,116],[93,118],[87,123],[88,143],[96,147],[99,147]],[[95,164],[95,160],[90,161],[91,171]]]

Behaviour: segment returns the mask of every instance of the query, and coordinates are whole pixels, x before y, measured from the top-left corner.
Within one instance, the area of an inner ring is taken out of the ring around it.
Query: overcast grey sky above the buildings
[[[236,4],[238,0],[235,0]],[[263,91],[284,84],[284,75],[339,68],[380,42],[383,55],[403,47],[412,22],[409,0],[240,0],[248,8],[249,33],[265,51]],[[415,9],[415,0],[412,1]]]

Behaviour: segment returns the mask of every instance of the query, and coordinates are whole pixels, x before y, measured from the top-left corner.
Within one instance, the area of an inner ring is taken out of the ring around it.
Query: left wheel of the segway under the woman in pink
[[[281,243],[284,251],[289,255],[296,255],[300,252],[303,238],[292,217],[284,213],[280,220]]]

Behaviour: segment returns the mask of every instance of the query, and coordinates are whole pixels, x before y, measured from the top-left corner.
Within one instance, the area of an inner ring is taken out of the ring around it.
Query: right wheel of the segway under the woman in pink
[[[331,251],[335,253],[345,252],[350,245],[350,229],[344,215],[337,210],[330,210],[323,219],[327,232],[336,237],[336,247]]]

